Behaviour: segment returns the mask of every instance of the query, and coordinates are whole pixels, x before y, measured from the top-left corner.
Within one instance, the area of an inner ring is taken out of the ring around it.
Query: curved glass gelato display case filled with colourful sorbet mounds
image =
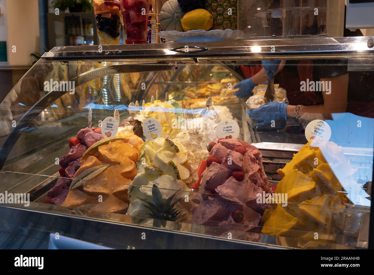
[[[53,48],[0,104],[2,248],[373,245],[373,37],[100,47]],[[275,102],[325,109],[256,126],[267,83],[237,84],[270,60]]]

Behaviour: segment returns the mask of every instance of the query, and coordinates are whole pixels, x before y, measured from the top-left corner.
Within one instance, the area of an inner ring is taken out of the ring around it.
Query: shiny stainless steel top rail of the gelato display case
[[[216,59],[274,59],[274,58],[365,58],[374,55],[368,48],[372,36],[364,37],[312,37],[303,39],[264,39],[234,42],[200,42],[190,48],[206,48],[203,52],[175,52],[188,43],[159,43],[138,45],[67,46],[55,47],[42,58],[52,60],[120,60],[120,59],[165,59],[200,61]],[[303,56],[300,57],[300,54]],[[299,54],[299,56],[295,56]]]

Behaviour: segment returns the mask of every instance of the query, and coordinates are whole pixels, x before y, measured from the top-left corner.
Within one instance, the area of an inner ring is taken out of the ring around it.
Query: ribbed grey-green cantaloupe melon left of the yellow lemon
[[[160,12],[160,25],[163,31],[184,31],[181,19],[183,10],[179,7],[177,0],[169,0],[163,4]]]

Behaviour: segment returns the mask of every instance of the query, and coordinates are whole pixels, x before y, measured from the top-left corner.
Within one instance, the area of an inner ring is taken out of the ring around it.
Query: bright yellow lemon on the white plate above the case
[[[209,31],[213,25],[213,16],[205,9],[191,10],[183,16],[181,23],[185,31]]]

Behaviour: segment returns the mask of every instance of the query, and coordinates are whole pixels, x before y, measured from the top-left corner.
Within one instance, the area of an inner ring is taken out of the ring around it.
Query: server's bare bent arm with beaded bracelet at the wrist
[[[342,76],[321,79],[331,81],[331,94],[322,92],[324,104],[303,106],[299,110],[299,116],[303,119],[332,119],[332,113],[344,113],[347,111],[348,102],[348,74]],[[287,116],[295,117],[294,105],[287,106]]]

